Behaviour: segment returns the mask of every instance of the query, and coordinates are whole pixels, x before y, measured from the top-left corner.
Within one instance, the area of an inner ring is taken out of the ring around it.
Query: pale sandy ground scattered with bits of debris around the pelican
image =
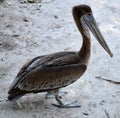
[[[43,0],[0,3],[0,118],[120,118],[120,1]],[[92,36],[92,55],[84,76],[64,88],[64,100],[78,100],[80,108],[60,109],[45,93],[30,94],[16,104],[6,102],[10,83],[22,65],[42,54],[79,50],[81,36],[72,18],[74,5],[89,4],[114,57]]]

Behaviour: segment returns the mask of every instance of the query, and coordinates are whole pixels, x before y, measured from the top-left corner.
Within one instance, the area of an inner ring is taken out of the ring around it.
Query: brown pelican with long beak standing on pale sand
[[[79,106],[75,102],[64,103],[59,96],[59,89],[78,80],[86,71],[91,53],[89,30],[111,57],[113,54],[100,32],[91,8],[88,5],[74,6],[72,13],[83,38],[80,50],[38,56],[25,64],[9,88],[9,101],[17,101],[28,93],[47,92],[54,94],[58,103],[54,104],[55,106],[62,108]]]

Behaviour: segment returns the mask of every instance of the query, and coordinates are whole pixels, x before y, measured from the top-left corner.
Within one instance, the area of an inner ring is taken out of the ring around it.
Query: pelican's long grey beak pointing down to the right
[[[85,24],[89,27],[90,31],[93,33],[93,35],[96,37],[98,42],[101,44],[101,46],[108,52],[108,54],[112,57],[113,54],[110,51],[107,43],[105,42],[100,29],[92,15],[92,13],[89,13],[87,15],[84,15],[81,20],[84,20]]]

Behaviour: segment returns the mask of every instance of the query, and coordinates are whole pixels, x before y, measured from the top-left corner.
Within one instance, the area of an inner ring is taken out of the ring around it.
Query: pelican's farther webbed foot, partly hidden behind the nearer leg
[[[68,94],[66,91],[59,91],[59,96],[60,96],[60,98],[62,98],[64,95],[66,95],[66,94]],[[53,91],[49,91],[49,92],[47,92],[47,94],[46,94],[46,97],[45,97],[46,99],[52,99],[52,98],[55,98],[55,94],[54,94],[54,92]]]

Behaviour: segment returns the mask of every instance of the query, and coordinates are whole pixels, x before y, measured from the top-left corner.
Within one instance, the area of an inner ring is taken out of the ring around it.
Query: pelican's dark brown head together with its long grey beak
[[[75,14],[77,14],[77,17],[79,17],[82,30],[84,30],[85,34],[88,34],[88,29],[93,33],[97,41],[101,44],[101,46],[105,49],[105,51],[112,57],[113,54],[110,51],[107,43],[104,40],[104,37],[102,36],[100,29],[95,21],[95,18],[92,14],[92,10],[87,5],[79,5],[73,7],[73,10]]]

